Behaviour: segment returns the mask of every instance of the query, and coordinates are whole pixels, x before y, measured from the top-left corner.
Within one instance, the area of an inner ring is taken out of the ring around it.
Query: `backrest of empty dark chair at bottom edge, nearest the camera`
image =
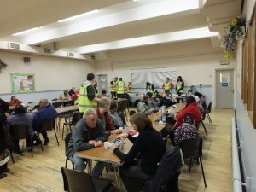
[[[61,167],[61,172],[64,179],[66,180],[66,187],[70,192],[96,192],[95,185],[92,181],[91,176],[86,172],[79,172]],[[65,187],[65,181],[64,181]]]

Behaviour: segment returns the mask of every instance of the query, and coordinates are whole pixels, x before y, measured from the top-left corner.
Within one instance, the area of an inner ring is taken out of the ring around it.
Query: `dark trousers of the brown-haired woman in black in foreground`
[[[127,192],[138,192],[143,190],[144,183],[151,179],[151,176],[143,172],[139,160],[131,166],[120,166],[119,172]]]

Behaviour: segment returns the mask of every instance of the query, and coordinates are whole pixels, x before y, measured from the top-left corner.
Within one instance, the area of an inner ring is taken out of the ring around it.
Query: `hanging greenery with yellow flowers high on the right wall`
[[[236,49],[236,41],[245,36],[246,20],[244,17],[236,17],[231,20],[230,25],[224,28],[222,47],[225,59],[230,60],[232,52]]]

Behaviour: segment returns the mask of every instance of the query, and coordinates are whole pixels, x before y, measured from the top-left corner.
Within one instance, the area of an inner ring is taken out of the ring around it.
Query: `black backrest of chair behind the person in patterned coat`
[[[183,151],[183,158],[196,158],[202,156],[202,138],[188,138],[181,141],[179,147]]]

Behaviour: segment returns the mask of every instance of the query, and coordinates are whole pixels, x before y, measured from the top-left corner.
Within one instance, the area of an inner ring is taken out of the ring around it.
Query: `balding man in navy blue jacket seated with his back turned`
[[[49,138],[47,137],[46,131],[41,131],[42,122],[44,120],[55,119],[58,116],[58,113],[56,112],[55,107],[49,104],[48,100],[45,98],[40,99],[39,106],[40,108],[38,112],[34,115],[32,126],[34,131],[42,133],[42,136],[44,137],[44,145],[47,145],[49,143]]]

